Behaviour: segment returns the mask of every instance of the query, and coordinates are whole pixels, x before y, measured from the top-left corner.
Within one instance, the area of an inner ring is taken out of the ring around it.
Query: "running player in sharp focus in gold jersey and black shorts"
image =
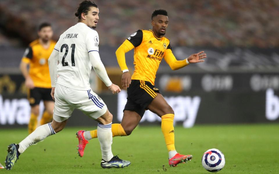
[[[154,86],[155,75],[163,58],[172,70],[178,70],[190,63],[203,62],[201,59],[206,58],[206,54],[202,51],[190,55],[185,60],[176,60],[169,39],[163,37],[169,22],[167,11],[155,10],[151,19],[152,30],[138,30],[116,51],[117,61],[123,72],[122,86],[127,88],[128,97],[121,124],[112,124],[112,136],[130,135],[139,124],[145,110],[150,110],[162,119],[161,128],[169,151],[169,165],[176,166],[192,159],[192,155],[180,155],[176,152],[174,111]],[[135,49],[135,71],[131,77],[126,66],[125,53],[132,49]],[[88,140],[97,137],[97,130],[78,131],[78,135],[78,151],[83,152]]]

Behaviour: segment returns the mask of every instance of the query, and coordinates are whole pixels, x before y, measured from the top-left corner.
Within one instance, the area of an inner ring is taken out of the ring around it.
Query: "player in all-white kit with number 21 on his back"
[[[112,155],[112,114],[103,100],[90,88],[89,75],[93,66],[98,77],[113,94],[120,92],[112,84],[99,56],[99,36],[93,30],[99,20],[99,9],[94,2],[83,1],[77,12],[78,23],[59,38],[48,63],[51,75],[51,96],[55,100],[53,121],[38,127],[19,144],[8,146],[6,169],[10,170],[19,155],[29,146],[61,131],[75,108],[98,123],[103,168],[123,168],[130,164]]]

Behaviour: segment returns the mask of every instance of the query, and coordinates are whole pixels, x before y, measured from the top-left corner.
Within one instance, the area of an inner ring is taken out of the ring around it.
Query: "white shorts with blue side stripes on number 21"
[[[71,117],[75,108],[93,119],[104,115],[108,109],[103,100],[91,89],[75,90],[56,84],[54,98],[53,119],[57,122]]]

